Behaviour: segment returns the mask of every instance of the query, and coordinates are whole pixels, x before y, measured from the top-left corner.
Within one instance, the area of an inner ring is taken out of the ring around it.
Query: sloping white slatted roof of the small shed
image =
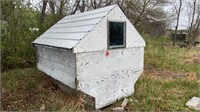
[[[72,49],[116,5],[66,16],[44,32],[33,43]]]

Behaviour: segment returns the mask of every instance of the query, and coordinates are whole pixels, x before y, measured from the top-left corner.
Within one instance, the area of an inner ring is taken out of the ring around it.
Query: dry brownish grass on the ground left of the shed
[[[61,91],[53,80],[36,68],[15,69],[2,73],[1,105],[7,111],[74,110],[76,95]]]

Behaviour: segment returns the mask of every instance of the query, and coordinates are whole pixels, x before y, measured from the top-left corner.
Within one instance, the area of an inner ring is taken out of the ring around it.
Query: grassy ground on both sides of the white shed
[[[126,110],[192,111],[185,104],[200,97],[200,48],[172,47],[168,39],[145,38],[145,71],[135,85]],[[36,68],[2,73],[3,110],[88,110],[78,94],[61,91],[53,80]],[[111,110],[122,101],[103,108]]]

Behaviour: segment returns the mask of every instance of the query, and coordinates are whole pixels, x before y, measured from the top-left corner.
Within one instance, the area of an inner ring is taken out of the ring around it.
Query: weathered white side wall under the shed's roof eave
[[[75,88],[75,55],[71,50],[36,46],[37,67],[54,79]]]

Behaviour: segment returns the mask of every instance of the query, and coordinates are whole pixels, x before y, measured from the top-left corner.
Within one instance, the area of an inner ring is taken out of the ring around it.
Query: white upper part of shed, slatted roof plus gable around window
[[[142,37],[117,5],[66,16],[33,43],[74,48],[74,53],[105,51],[108,48],[108,21],[126,21],[126,48],[145,46]]]

